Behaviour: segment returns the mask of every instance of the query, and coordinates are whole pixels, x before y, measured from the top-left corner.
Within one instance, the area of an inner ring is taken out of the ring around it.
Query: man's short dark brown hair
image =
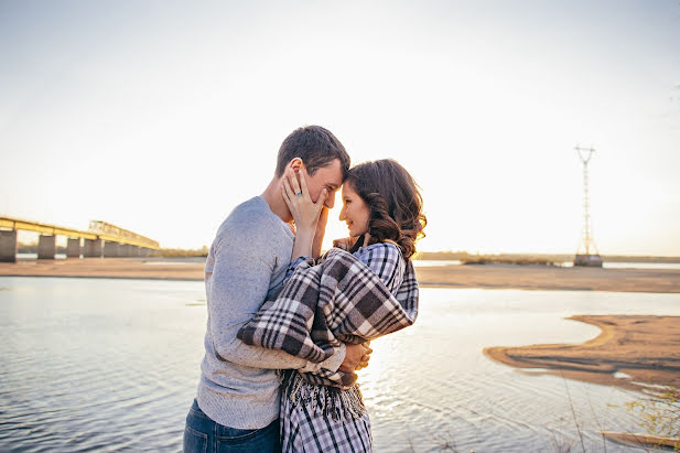
[[[341,161],[343,181],[349,170],[349,154],[339,140],[321,126],[303,126],[295,129],[283,140],[277,157],[277,177],[283,175],[285,165],[295,158],[302,159],[310,175],[324,168],[335,159]]]

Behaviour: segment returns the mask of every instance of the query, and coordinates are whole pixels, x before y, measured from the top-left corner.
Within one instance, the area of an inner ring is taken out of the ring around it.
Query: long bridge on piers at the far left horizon
[[[67,258],[144,257],[159,250],[159,242],[101,220],[91,220],[79,230],[12,217],[0,217],[0,261],[17,262],[18,231],[40,233],[37,259],[54,259],[56,237],[66,236]]]

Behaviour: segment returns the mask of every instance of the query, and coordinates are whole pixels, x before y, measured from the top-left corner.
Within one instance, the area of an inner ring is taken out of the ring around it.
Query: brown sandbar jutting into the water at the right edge
[[[484,354],[517,368],[540,368],[589,382],[636,390],[645,385],[680,388],[680,316],[579,315],[570,320],[596,325],[602,333],[581,345],[488,347]]]

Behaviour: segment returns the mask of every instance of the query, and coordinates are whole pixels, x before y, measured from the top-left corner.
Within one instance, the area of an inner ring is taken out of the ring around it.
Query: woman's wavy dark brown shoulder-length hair
[[[368,206],[368,245],[393,241],[404,259],[415,254],[415,241],[425,236],[422,195],[413,177],[397,161],[382,159],[349,169],[345,180]],[[352,251],[364,245],[359,237]]]

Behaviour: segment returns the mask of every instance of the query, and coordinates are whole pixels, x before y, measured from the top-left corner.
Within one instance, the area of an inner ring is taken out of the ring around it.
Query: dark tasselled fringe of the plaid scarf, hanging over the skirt
[[[366,413],[366,406],[358,384],[348,390],[310,384],[298,371],[279,374],[283,378],[283,396],[293,407],[306,406],[312,413],[320,411],[333,420],[358,419]]]

